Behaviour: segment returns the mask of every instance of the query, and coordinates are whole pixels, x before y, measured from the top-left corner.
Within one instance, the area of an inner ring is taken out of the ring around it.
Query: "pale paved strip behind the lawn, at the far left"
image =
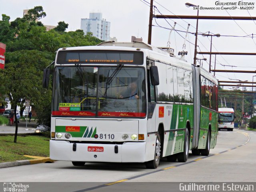
[[[36,129],[36,121],[32,120],[28,122],[26,128],[26,121],[20,121],[18,123],[18,133],[34,133]],[[10,123],[6,126],[0,126],[0,134],[14,134],[15,133],[15,124],[10,126]]]

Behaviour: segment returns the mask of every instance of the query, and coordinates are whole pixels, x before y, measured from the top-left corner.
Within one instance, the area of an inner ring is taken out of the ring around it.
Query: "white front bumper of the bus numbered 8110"
[[[146,142],[123,144],[76,143],[76,151],[69,141],[50,140],[50,158],[83,162],[145,162]],[[116,147],[117,146],[117,147]],[[88,147],[103,147],[103,152],[88,151]]]

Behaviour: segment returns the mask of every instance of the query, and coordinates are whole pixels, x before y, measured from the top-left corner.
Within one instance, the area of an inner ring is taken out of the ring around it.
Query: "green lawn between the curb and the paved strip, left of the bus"
[[[0,136],[0,163],[31,158],[23,155],[49,157],[49,138],[44,136]]]

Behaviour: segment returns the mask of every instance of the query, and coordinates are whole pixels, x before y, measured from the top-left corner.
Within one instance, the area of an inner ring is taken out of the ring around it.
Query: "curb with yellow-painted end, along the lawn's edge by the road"
[[[53,162],[54,160],[51,160],[49,157],[46,157],[46,158],[32,159],[32,160],[4,162],[4,163],[0,163],[0,168],[8,168],[8,167],[21,166],[21,165],[31,165],[31,164],[38,164],[38,163],[53,163]]]

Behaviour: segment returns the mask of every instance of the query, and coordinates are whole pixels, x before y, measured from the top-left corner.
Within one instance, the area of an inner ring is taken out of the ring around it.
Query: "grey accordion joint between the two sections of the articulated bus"
[[[192,65],[192,82],[194,95],[194,128],[192,149],[198,147],[200,126],[200,68]]]

